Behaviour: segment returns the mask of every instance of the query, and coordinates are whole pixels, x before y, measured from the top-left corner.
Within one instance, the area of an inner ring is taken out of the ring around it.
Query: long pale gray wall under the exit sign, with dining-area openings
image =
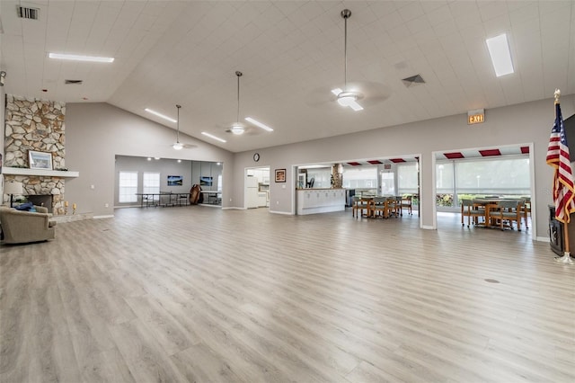
[[[563,117],[568,118],[575,112],[575,96],[562,96],[561,101]],[[420,156],[421,226],[434,228],[435,151],[533,144],[536,235],[544,238],[547,236],[547,205],[553,201],[553,168],[545,163],[553,120],[553,99],[550,98],[488,110],[485,122],[478,125],[467,125],[466,113],[462,113],[391,128],[258,149],[257,152],[261,155],[260,162],[270,165],[271,174],[277,168],[287,169],[287,183],[270,183],[270,211],[288,214],[294,212],[295,165]],[[253,165],[254,151],[234,156],[234,172],[241,172],[244,167]],[[234,184],[235,198],[239,196],[240,200],[243,200],[242,193],[241,186]]]

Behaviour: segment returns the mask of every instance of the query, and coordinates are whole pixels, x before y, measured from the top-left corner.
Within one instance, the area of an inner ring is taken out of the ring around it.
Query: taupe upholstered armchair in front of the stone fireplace
[[[0,225],[4,244],[47,241],[56,236],[56,221],[48,209],[36,206],[36,212],[0,207]]]

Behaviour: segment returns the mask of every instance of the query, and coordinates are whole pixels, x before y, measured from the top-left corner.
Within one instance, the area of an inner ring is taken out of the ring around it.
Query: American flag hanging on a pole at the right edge
[[[555,218],[562,223],[569,223],[571,212],[575,211],[573,191],[573,174],[569,146],[565,137],[565,127],[561,115],[561,106],[555,102],[555,123],[547,147],[547,164],[555,168],[553,175],[553,202],[555,203]]]

